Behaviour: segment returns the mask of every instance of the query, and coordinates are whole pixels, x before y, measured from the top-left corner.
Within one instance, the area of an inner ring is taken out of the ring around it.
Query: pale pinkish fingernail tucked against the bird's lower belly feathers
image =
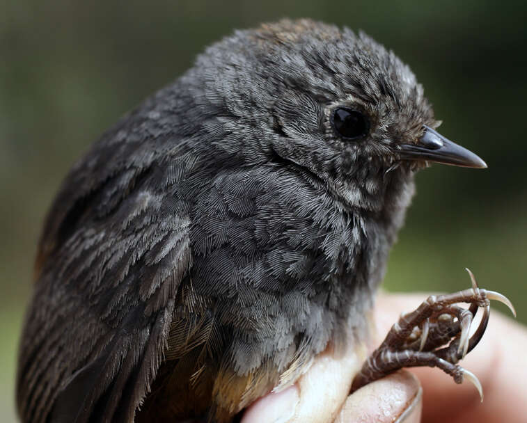
[[[300,401],[297,385],[281,392],[272,392],[247,408],[241,423],[285,423],[297,409]]]

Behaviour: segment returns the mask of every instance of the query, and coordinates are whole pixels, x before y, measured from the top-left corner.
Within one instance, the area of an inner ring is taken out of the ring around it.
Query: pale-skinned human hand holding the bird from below
[[[381,294],[375,306],[377,334],[368,349],[382,342],[400,312],[414,310],[426,297]],[[428,367],[397,372],[347,397],[352,376],[366,351],[349,349],[338,357],[326,351],[296,385],[256,401],[246,410],[242,423],[524,422],[525,351],[527,329],[492,310],[482,341],[460,363],[482,383],[482,403],[471,383],[457,385],[439,369]]]

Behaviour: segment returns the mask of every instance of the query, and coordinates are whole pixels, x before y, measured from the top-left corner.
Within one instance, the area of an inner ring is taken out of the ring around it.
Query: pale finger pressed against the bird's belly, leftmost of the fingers
[[[365,359],[365,345],[320,353],[297,383],[252,404],[242,423],[330,423],[342,407],[352,379]]]

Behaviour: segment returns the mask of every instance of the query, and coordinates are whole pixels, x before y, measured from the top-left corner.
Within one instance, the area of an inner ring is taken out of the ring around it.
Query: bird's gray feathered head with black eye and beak
[[[430,161],[486,167],[434,130],[439,122],[409,67],[363,33],[284,20],[237,31],[196,67],[203,102],[223,108],[239,136],[238,155],[274,155],[348,205],[382,209]]]

